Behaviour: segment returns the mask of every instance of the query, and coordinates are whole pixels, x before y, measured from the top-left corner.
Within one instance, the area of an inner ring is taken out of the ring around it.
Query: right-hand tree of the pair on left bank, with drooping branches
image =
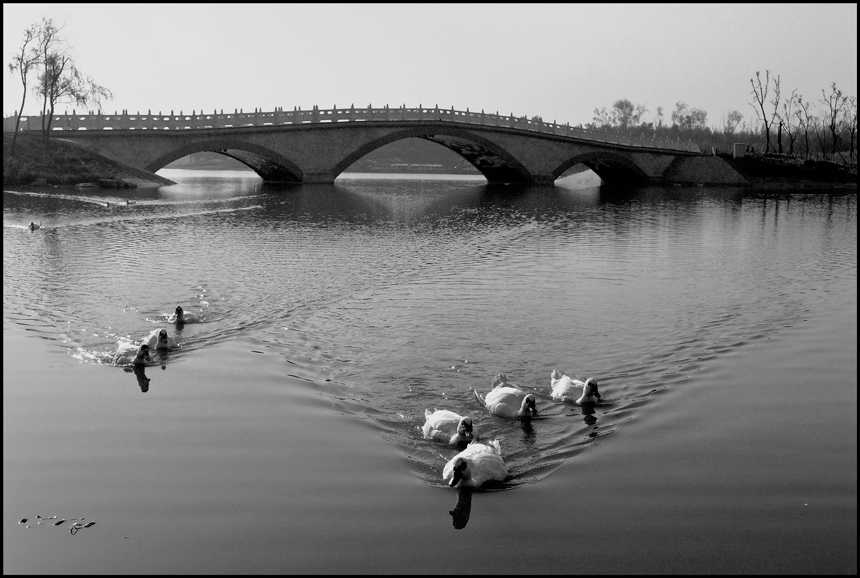
[[[68,45],[60,38],[62,26],[57,27],[49,18],[42,18],[39,26],[39,58],[42,72],[36,93],[42,97],[42,138],[47,142],[54,120],[54,109],[59,102],[73,102],[77,106],[99,106],[102,99],[111,100],[113,94],[96,84],[78,70]]]

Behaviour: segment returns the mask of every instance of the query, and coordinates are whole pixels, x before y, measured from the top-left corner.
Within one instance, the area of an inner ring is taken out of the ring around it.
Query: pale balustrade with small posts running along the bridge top
[[[16,117],[11,116],[3,119],[3,131],[15,131]],[[557,124],[555,121],[549,123],[539,119],[532,120],[526,116],[516,117],[504,116],[496,112],[485,113],[429,107],[406,107],[400,106],[390,108],[385,105],[374,108],[367,107],[338,108],[336,105],[330,109],[321,109],[314,106],[310,110],[294,108],[283,110],[277,108],[271,112],[255,110],[254,112],[205,113],[203,111],[192,111],[191,114],[130,114],[128,111],[114,114],[103,114],[100,111],[93,114],[55,114],[51,123],[52,130],[200,130],[215,128],[238,128],[238,127],[260,127],[260,126],[284,126],[316,123],[339,123],[339,122],[378,122],[378,121],[443,121],[462,123],[470,125],[483,125],[502,128],[513,128],[524,131],[553,134],[562,137],[576,138],[607,144],[622,145],[637,148],[665,149],[672,151],[683,151],[700,153],[699,146],[692,141],[664,140],[657,138],[634,137],[611,134],[597,129],[586,129],[570,126],[569,124]],[[42,130],[41,116],[22,116],[20,131]]]

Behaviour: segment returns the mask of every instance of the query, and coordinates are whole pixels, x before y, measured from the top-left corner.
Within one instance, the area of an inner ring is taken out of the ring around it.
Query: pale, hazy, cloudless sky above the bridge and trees
[[[783,97],[857,95],[857,4],[4,4],[4,65],[43,16],[110,111],[438,104],[578,124],[627,98],[715,126],[753,118],[756,71]]]

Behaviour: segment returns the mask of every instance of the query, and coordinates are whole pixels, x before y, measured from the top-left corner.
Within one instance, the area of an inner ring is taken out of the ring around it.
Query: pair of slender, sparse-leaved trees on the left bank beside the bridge
[[[20,50],[9,63],[9,72],[17,74],[23,88],[21,108],[15,120],[11,153],[15,154],[15,141],[27,92],[32,90],[42,99],[42,137],[48,141],[54,108],[59,103],[74,103],[78,106],[99,106],[102,99],[111,100],[113,95],[89,76],[85,76],[71,54],[71,48],[62,39],[63,26],[57,26],[50,18],[31,24],[24,30]],[[35,84],[31,74],[36,74]]]

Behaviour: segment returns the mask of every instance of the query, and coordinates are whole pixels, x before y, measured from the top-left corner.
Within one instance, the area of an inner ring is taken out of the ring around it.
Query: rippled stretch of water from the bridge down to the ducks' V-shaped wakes
[[[182,305],[201,322],[170,329],[167,362],[249,337],[431,485],[456,450],[422,439],[426,408],[499,439],[506,487],[538,481],[856,283],[856,196],[207,183],[126,206],[5,191],[4,319],[109,365]],[[25,229],[35,215],[44,228]],[[552,401],[554,368],[596,376],[603,401]],[[499,372],[537,396],[538,419],[477,404]]]

